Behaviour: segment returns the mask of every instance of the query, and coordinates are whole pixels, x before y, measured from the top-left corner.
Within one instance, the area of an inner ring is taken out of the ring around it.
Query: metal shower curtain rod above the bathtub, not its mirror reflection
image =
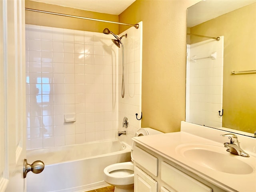
[[[93,18],[88,18],[88,17],[80,17],[80,16],[74,16],[74,15],[68,15],[68,14],[62,14],[62,13],[55,13],[55,12],[49,12],[49,11],[42,11],[42,10],[36,10],[36,9],[29,9],[29,8],[25,8],[25,10],[35,11],[35,12],[40,12],[40,13],[48,13],[48,14],[53,14],[53,15],[66,16],[66,17],[73,17],[73,18],[79,18],[79,19],[86,19],[86,20],[92,20],[92,21],[99,21],[99,22],[107,22],[107,23],[114,23],[114,24],[134,26],[136,29],[139,28],[139,24],[138,23],[133,25],[133,24],[119,23],[119,22],[114,22],[114,21],[106,21],[106,20],[93,19]]]

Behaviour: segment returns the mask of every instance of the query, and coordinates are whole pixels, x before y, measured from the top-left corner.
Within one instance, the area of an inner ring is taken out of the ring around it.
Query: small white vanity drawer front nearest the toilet
[[[154,176],[158,175],[158,158],[137,146],[134,146],[134,149],[132,150],[132,156],[134,162],[138,163]]]

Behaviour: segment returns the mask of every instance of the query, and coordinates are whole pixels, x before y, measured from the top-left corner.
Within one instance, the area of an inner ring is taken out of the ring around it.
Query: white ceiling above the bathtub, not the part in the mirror
[[[82,10],[107,13],[113,15],[121,14],[135,0],[34,0],[65,7]]]

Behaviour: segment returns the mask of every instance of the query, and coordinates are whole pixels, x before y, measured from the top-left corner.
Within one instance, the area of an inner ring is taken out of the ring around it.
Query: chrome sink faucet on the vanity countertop
[[[235,134],[224,134],[220,136],[230,138],[230,143],[224,143],[224,147],[228,148],[228,152],[243,157],[250,157],[248,153],[244,152],[244,150],[241,149],[238,138]]]

